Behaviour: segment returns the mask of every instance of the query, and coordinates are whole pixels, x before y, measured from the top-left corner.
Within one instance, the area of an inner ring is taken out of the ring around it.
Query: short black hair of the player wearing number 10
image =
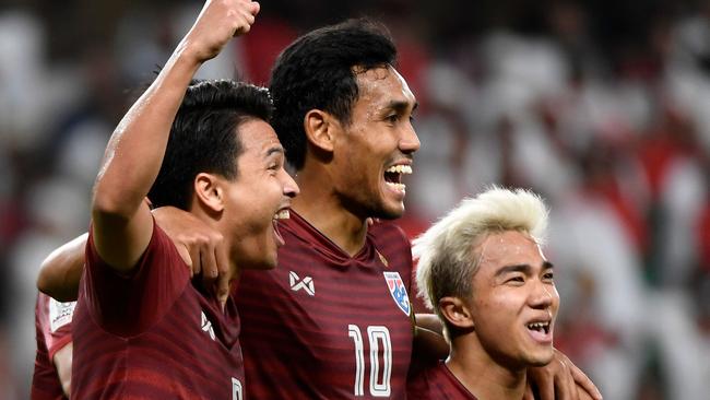
[[[348,125],[358,96],[353,68],[369,70],[395,59],[387,28],[367,19],[309,32],[282,51],[271,72],[272,125],[296,169],[306,158],[306,113],[322,109]]]

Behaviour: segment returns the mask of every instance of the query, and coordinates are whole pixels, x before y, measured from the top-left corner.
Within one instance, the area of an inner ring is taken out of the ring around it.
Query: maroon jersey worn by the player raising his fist
[[[74,313],[72,398],[242,399],[239,317],[191,284],[157,225],[128,277],[86,245]]]

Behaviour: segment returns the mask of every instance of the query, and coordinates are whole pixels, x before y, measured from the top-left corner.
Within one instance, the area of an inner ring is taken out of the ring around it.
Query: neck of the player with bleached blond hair
[[[496,362],[481,346],[475,332],[452,340],[446,364],[478,400],[520,400],[525,392],[525,368],[510,368]]]

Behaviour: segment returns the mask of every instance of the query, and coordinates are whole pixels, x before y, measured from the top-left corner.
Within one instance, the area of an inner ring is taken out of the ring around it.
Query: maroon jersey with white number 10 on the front
[[[402,399],[412,353],[412,252],[377,224],[350,257],[292,211],[279,267],[244,271],[237,304],[257,399]]]

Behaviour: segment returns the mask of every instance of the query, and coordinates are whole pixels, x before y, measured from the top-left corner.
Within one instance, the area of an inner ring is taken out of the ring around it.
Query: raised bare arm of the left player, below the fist
[[[201,62],[179,46],[116,128],[94,187],[94,244],[119,271],[132,269],[150,243],[144,198],[163,163],[173,120]]]

